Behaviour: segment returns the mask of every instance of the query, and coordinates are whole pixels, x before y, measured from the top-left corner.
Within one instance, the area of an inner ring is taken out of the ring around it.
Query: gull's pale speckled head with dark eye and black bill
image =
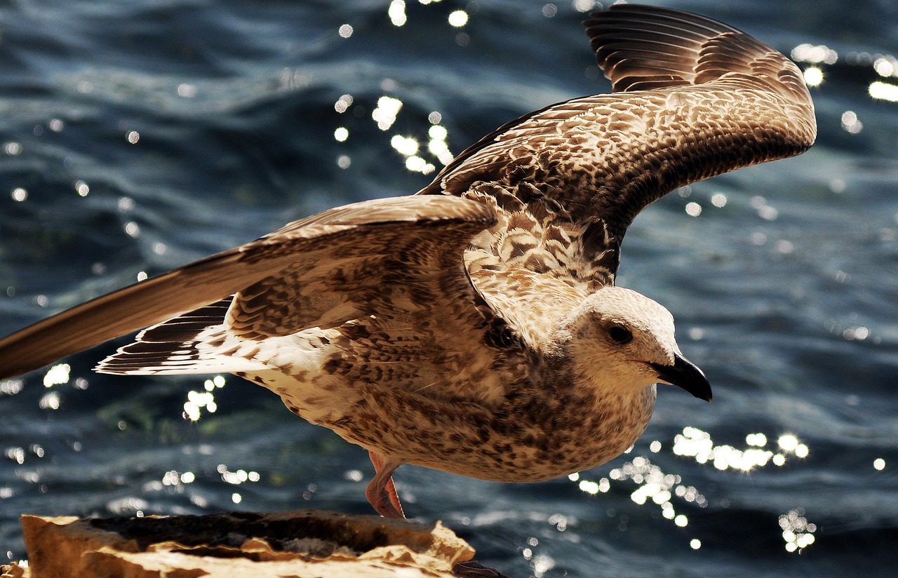
[[[711,400],[704,373],[674,339],[674,316],[645,295],[607,286],[590,294],[559,325],[575,371],[604,391],[670,383]]]

